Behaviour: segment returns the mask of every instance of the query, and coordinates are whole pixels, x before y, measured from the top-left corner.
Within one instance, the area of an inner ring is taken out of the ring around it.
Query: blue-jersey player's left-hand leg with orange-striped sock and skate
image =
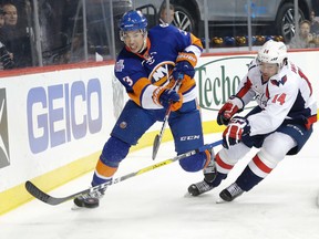
[[[131,146],[137,144],[142,135],[155,123],[156,117],[152,113],[152,111],[145,111],[137,106],[133,101],[126,103],[97,160],[92,186],[112,180]],[[74,199],[74,204],[79,207],[96,207],[99,206],[96,199],[101,198],[103,194],[104,191],[100,190],[92,195],[80,196]],[[88,201],[91,204],[89,205]]]

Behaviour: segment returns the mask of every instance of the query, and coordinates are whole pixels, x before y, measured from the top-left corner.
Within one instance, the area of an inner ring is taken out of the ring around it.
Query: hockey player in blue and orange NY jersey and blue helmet
[[[147,20],[140,11],[126,12],[120,22],[120,52],[114,73],[130,97],[99,158],[92,186],[112,180],[120,163],[132,145],[157,121],[163,121],[171,105],[168,118],[177,154],[204,145],[202,121],[196,103],[195,65],[203,46],[192,33],[173,25],[161,24],[146,30]],[[178,91],[178,75],[183,75]],[[192,125],[192,126],[189,126]],[[179,162],[186,172],[207,167],[210,153],[196,154]],[[74,199],[79,207],[94,207],[103,191]]]

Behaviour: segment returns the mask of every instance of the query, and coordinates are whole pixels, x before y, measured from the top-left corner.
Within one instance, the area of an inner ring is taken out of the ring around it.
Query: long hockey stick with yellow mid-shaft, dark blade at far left
[[[96,191],[96,190],[100,190],[100,189],[103,189],[103,188],[106,188],[107,186],[111,186],[111,185],[114,185],[114,184],[117,184],[120,181],[123,181],[123,180],[126,180],[128,178],[132,178],[132,177],[135,177],[137,175],[141,175],[141,174],[144,174],[144,173],[147,173],[147,172],[151,172],[151,170],[154,170],[156,168],[160,168],[160,167],[163,167],[165,165],[168,165],[168,164],[172,164],[173,162],[177,162],[177,160],[181,160],[183,158],[186,158],[186,157],[189,157],[192,155],[195,155],[197,153],[200,153],[200,152],[205,152],[206,149],[209,149],[209,148],[213,148],[215,146],[218,146],[223,143],[223,141],[217,141],[217,142],[214,142],[212,144],[206,144],[206,145],[203,145],[202,147],[197,148],[197,149],[194,149],[194,150],[189,150],[189,152],[186,152],[184,154],[181,154],[176,157],[173,157],[173,158],[169,158],[169,159],[166,159],[166,160],[163,160],[163,162],[160,162],[157,164],[154,164],[154,165],[151,165],[151,166],[147,166],[147,167],[144,167],[144,168],[141,168],[140,170],[137,172],[133,172],[131,174],[127,174],[127,175],[124,175],[122,177],[119,177],[119,178],[115,178],[113,179],[112,181],[106,181],[104,184],[101,184],[101,185],[97,185],[95,187],[90,187],[88,189],[84,189],[84,190],[81,190],[81,191],[78,191],[75,194],[72,194],[72,195],[69,195],[69,196],[65,196],[65,197],[53,197],[53,196],[50,196],[48,195],[47,193],[44,193],[43,190],[41,190],[40,188],[38,188],[34,184],[32,184],[31,181],[25,181],[25,189],[29,191],[29,194],[31,194],[33,197],[35,197],[37,199],[45,202],[45,204],[49,204],[49,205],[60,205],[64,201],[68,201],[68,200],[71,200],[73,198],[75,198],[76,196],[80,196],[80,195],[84,195],[84,194],[89,194],[89,193],[92,193],[92,191]]]

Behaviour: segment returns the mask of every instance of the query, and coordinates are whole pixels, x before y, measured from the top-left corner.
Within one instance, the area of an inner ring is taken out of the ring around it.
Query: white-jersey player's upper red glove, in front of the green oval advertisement
[[[219,110],[217,115],[218,125],[228,125],[234,114],[244,110],[244,102],[240,97],[231,95],[224,106]]]

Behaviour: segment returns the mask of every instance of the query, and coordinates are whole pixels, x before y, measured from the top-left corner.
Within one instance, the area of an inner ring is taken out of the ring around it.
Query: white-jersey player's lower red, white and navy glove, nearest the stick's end
[[[229,146],[241,142],[241,138],[249,135],[249,133],[250,126],[247,118],[235,116],[223,133],[223,146],[229,148]]]

